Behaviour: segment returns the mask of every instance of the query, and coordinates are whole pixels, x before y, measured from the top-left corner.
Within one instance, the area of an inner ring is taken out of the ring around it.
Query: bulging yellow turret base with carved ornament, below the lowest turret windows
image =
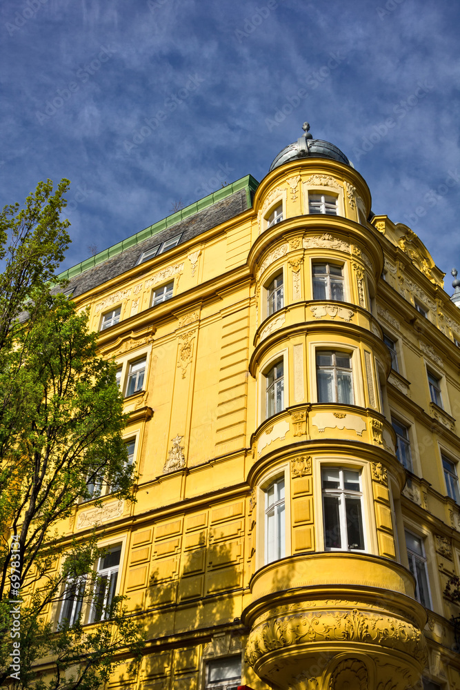
[[[254,574],[251,596],[246,661],[270,687],[336,687],[325,679],[344,660],[349,684],[339,687],[391,680],[402,690],[420,677],[426,613],[412,575],[395,562],[362,553],[290,556]]]

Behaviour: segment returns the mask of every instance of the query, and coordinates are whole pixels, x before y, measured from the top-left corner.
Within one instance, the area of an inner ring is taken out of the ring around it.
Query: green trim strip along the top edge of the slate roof
[[[104,249],[94,257],[85,259],[85,261],[82,261],[80,264],[64,270],[62,273],[59,273],[58,278],[63,280],[74,278],[76,275],[84,273],[84,271],[88,270],[88,268],[93,268],[93,266],[97,266],[98,264],[107,261],[107,259],[111,259],[112,257],[117,256],[117,254],[121,254],[121,252],[123,252],[125,249],[135,246],[136,244],[139,244],[139,242],[143,242],[144,239],[148,239],[149,237],[160,233],[161,230],[166,230],[166,228],[169,228],[170,226],[179,223],[181,220],[194,215],[194,213],[198,213],[199,211],[203,210],[203,208],[209,208],[209,206],[217,204],[218,201],[222,201],[222,199],[230,197],[232,194],[235,194],[242,189],[246,191],[246,201],[248,208],[250,208],[252,206],[251,193],[254,193],[258,186],[259,182],[257,179],[252,177],[252,175],[241,177],[241,179],[237,179],[236,181],[232,182],[232,184],[228,184],[225,187],[218,189],[216,192],[208,194],[207,197],[194,201],[193,204],[186,206],[186,208],[181,208],[181,210],[177,211],[176,213],[172,213],[172,215],[159,220],[157,223],[154,223],[145,230],[140,230],[139,233],[136,233],[127,239],[123,239],[122,242],[118,242],[118,244],[114,244],[108,249]]]

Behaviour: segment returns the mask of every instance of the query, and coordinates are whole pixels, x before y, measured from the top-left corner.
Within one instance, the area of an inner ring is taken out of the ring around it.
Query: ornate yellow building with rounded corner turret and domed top
[[[112,689],[460,689],[459,308],[303,128],[260,184],[63,274],[139,473],[137,503],[68,524],[100,525],[99,571],[148,628]]]

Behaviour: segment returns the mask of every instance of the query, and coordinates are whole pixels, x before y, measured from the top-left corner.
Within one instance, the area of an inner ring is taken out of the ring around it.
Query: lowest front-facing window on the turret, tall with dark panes
[[[363,551],[361,475],[337,467],[321,471],[324,548]]]

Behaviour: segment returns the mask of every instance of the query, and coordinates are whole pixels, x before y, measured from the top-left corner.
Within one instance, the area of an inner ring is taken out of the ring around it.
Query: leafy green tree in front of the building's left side
[[[101,482],[126,500],[134,485],[115,365],[97,354],[87,313],[55,275],[70,242],[61,220],[69,184],[53,193],[40,182],[22,210],[0,215],[0,684],[18,689],[101,687],[142,644],[124,598],[106,596],[94,570],[101,533],[79,541],[59,529]],[[48,620],[72,598],[74,620]],[[97,624],[82,624],[85,606]]]

